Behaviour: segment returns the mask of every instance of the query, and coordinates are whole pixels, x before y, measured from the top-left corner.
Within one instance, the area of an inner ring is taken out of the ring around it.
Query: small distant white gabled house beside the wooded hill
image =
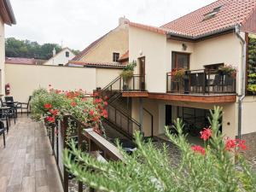
[[[52,65],[52,66],[64,66],[68,61],[74,58],[74,54],[71,49],[64,48],[61,49],[59,53],[56,54],[56,50],[53,49],[53,56],[49,58],[48,61],[45,61],[43,65]]]

